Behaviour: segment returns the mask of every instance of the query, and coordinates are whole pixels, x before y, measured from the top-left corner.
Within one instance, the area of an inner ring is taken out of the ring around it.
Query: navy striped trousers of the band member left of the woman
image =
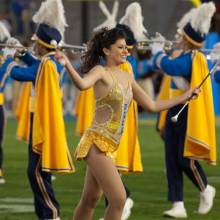
[[[31,114],[28,178],[34,194],[35,212],[39,220],[59,217],[59,203],[51,183],[51,173],[41,170],[41,155],[32,150],[33,114]]]

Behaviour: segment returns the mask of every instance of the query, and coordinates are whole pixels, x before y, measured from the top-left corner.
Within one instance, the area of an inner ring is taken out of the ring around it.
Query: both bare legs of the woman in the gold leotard
[[[113,161],[97,147],[91,147],[87,162],[84,191],[76,208],[74,220],[91,220],[94,208],[104,191],[109,204],[105,210],[105,220],[120,220],[126,201],[126,193],[120,175]]]

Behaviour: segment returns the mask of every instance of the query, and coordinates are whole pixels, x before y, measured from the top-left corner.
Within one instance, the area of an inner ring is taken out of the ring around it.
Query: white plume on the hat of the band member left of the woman
[[[41,3],[40,9],[35,13],[32,20],[37,24],[47,24],[60,31],[64,36],[67,27],[65,11],[62,0],[46,0]]]

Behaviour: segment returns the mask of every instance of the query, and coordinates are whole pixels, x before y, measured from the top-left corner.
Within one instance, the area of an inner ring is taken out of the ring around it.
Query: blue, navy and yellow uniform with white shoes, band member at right
[[[211,12],[210,12],[211,14]],[[195,47],[200,47],[204,35],[196,32],[191,23],[183,28],[183,37]],[[163,52],[154,57],[154,64],[171,76],[170,97],[182,94],[187,88],[196,87],[208,74],[205,56],[198,50],[183,52],[170,59]],[[183,173],[200,191],[199,214],[210,211],[215,188],[208,185],[206,175],[198,163],[199,159],[216,164],[216,140],[212,88],[210,78],[202,86],[198,99],[191,101],[173,123],[171,118],[183,105],[167,112],[165,125],[165,159],[168,180],[168,200],[173,208],[165,216],[187,217],[183,204]],[[201,120],[203,118],[203,120]],[[203,122],[202,122],[203,121]]]

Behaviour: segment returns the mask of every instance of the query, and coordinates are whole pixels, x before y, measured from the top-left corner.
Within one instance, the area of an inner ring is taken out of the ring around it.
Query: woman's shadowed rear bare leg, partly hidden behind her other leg
[[[74,220],[90,220],[99,198],[102,196],[102,190],[99,187],[91,169],[87,166],[84,189],[81,200],[74,213]]]

